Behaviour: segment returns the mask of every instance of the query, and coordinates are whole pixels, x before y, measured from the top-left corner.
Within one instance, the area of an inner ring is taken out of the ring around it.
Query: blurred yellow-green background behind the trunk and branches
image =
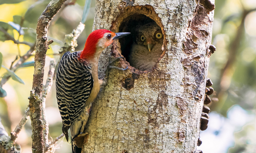
[[[35,42],[38,17],[50,0],[0,0],[0,27],[8,29],[10,36],[20,42],[14,44],[6,39],[0,29],[0,52],[2,65],[9,69],[12,62],[28,52]],[[73,3],[75,2],[75,3]],[[9,4],[6,4],[9,3]],[[72,32],[81,21],[85,0],[68,0],[57,16],[50,22],[48,36],[54,40],[47,51],[45,78],[49,61],[58,60],[60,46],[65,42],[65,34]],[[216,0],[212,44],[217,50],[210,57],[208,77],[212,80],[215,93],[209,113],[208,129],[200,132],[202,145],[197,147],[204,153],[255,153],[256,152],[256,1],[255,0]],[[85,22],[85,30],[78,38],[81,50],[87,36],[92,31],[95,1]],[[9,24],[8,24],[9,23]],[[23,29],[19,29],[21,25]],[[29,46],[30,45],[30,46]],[[17,75],[3,84],[6,97],[0,98],[0,117],[8,133],[13,131],[28,106],[28,99],[34,74],[35,53],[28,63],[15,71]],[[17,60],[16,60],[17,61]],[[14,62],[15,63],[15,62]],[[8,71],[0,69],[1,77]],[[23,84],[25,83],[25,85]],[[46,99],[46,115],[49,135],[55,139],[61,134],[61,118],[57,107],[55,84]],[[14,113],[15,112],[15,113]],[[31,151],[30,121],[18,136],[17,143],[23,153]],[[56,152],[69,153],[71,146],[63,138],[58,141]]]

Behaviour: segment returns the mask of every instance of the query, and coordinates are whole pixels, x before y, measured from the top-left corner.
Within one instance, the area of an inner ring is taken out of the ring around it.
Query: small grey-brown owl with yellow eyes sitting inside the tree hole
[[[163,33],[156,22],[138,25],[134,30],[129,63],[134,68],[151,70],[162,55]]]

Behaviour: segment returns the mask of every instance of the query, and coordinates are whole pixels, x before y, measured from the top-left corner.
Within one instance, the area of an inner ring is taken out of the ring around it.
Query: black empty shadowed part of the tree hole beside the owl
[[[137,25],[144,25],[150,22],[155,21],[143,14],[134,14],[125,18],[121,23],[119,32],[131,32],[130,35],[119,39],[122,55],[125,57],[126,61],[129,62],[129,55],[134,40],[134,28]]]

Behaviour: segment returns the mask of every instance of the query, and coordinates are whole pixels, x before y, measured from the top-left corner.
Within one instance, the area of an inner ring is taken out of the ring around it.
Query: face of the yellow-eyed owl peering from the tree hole
[[[163,34],[161,28],[154,23],[147,23],[135,28],[135,42],[148,49],[149,52],[155,44],[163,44]]]

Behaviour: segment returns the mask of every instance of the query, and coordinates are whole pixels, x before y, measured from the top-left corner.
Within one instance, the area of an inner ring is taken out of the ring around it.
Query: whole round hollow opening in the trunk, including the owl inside
[[[143,14],[133,14],[123,20],[119,32],[131,32],[120,39],[122,55],[140,71],[152,70],[163,54],[163,33],[159,25]]]

